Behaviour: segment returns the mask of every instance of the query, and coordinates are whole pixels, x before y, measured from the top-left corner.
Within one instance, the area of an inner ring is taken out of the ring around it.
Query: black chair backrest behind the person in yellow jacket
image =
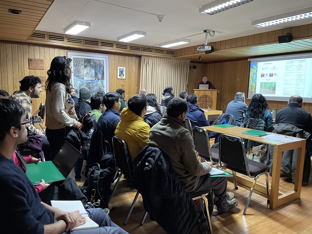
[[[116,136],[113,136],[112,141],[116,167],[118,167],[128,179],[132,180],[133,166],[125,141]]]

